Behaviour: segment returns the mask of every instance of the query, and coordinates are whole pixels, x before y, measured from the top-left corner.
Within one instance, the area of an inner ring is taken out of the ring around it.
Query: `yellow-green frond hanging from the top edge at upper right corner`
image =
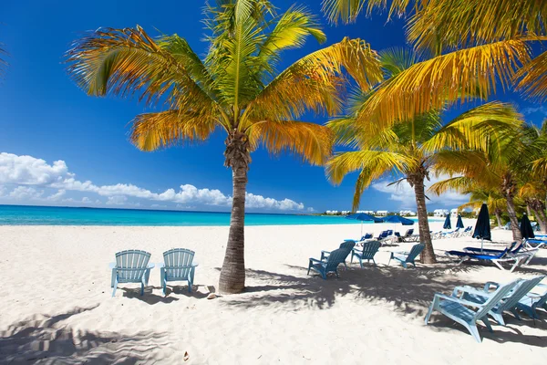
[[[460,47],[545,32],[547,2],[428,0],[410,17],[408,40],[419,49]]]

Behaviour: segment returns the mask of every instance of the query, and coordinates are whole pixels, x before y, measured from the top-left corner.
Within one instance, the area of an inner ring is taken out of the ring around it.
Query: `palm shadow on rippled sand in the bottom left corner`
[[[141,331],[125,335],[75,330],[63,323],[97,307],[74,308],[55,316],[35,315],[0,331],[0,362],[136,363],[153,361],[155,349],[166,344],[166,335],[162,332]]]

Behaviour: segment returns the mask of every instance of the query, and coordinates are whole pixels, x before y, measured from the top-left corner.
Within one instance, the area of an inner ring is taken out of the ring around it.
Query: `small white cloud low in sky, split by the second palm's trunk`
[[[460,193],[448,192],[440,196],[437,196],[434,193],[428,193],[428,187],[433,183],[445,180],[449,178],[448,175],[440,175],[439,177],[431,176],[431,180],[425,181],[426,185],[426,195],[430,200],[426,203],[429,205],[442,205],[447,207],[457,206],[462,203],[465,203],[469,200],[468,195],[463,195]],[[389,181],[379,181],[373,183],[371,186],[373,189],[381,193],[388,193],[389,200],[400,202],[400,209],[416,209],[416,196],[414,194],[414,188],[410,187],[410,184],[406,181],[403,181],[398,184],[393,184],[387,186]]]

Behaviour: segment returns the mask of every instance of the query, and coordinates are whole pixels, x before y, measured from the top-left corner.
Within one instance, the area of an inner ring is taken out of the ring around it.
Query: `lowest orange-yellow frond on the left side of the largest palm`
[[[218,125],[215,120],[204,120],[198,113],[179,110],[140,114],[131,124],[130,140],[142,151],[204,141]]]

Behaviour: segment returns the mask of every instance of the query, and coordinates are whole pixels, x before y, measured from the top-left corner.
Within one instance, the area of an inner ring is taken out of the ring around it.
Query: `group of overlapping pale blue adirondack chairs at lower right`
[[[501,326],[505,326],[503,316],[507,312],[521,319],[518,310],[531,318],[539,318],[538,308],[547,310],[547,285],[540,284],[544,277],[518,279],[505,285],[488,282],[482,288],[455,287],[449,296],[436,293],[428,309],[426,325],[429,323],[431,314],[438,311],[467,328],[470,334],[480,342],[477,323],[483,322],[492,332],[489,316]]]

